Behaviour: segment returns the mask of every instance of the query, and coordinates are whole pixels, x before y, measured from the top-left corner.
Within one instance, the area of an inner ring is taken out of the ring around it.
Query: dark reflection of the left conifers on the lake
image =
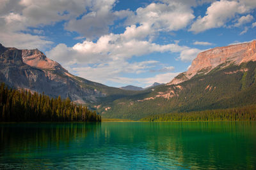
[[[97,123],[0,124],[0,152],[40,152],[42,148],[68,148],[88,132],[96,131]]]

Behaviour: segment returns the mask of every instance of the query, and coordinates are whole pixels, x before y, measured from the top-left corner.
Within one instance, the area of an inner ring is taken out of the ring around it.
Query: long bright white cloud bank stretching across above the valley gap
[[[73,47],[60,44],[47,55],[61,64],[97,63],[111,60],[126,60],[134,56],[141,56],[152,52],[182,52],[187,46],[177,44],[157,45],[145,40],[131,39],[130,27],[123,34],[108,34],[101,36],[95,43],[83,41]],[[136,37],[136,36],[135,36]]]

